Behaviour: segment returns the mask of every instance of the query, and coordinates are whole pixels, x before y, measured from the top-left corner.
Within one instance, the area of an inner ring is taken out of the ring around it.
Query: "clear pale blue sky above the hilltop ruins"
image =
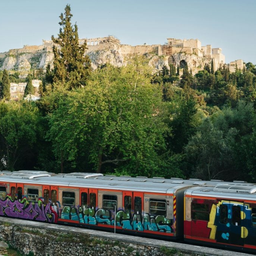
[[[57,36],[66,4],[79,38],[114,35],[129,45],[198,38],[222,48],[227,63],[256,64],[256,0],[2,0],[0,52]]]

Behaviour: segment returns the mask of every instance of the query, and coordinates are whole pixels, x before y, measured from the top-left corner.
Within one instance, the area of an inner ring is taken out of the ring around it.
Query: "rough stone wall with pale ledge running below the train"
[[[114,234],[84,228],[44,222],[0,217],[0,240],[25,255],[89,255],[89,256],[189,256],[232,254],[216,248],[206,248],[171,241]]]

